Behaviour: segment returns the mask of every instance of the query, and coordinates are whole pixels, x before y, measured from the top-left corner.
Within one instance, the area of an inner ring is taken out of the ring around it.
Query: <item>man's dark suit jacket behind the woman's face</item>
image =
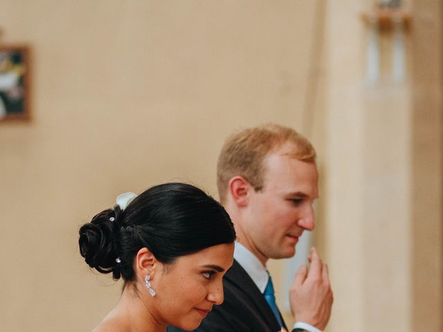
[[[280,331],[268,302],[237,261],[224,276],[223,286],[223,304],[214,306],[195,332]],[[179,331],[183,330],[168,327],[168,332]]]

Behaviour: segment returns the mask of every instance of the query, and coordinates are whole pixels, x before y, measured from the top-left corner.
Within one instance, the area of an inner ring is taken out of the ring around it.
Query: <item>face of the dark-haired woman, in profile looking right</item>
[[[223,302],[222,278],[233,264],[234,244],[219,244],[161,264],[152,276],[153,303],[163,322],[193,330]]]

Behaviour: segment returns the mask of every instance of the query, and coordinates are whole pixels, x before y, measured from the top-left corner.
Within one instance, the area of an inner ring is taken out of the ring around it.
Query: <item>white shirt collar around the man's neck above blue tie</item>
[[[248,273],[260,292],[263,293],[269,279],[266,266],[263,266],[262,262],[252,252],[238,242],[235,243],[234,258]]]

